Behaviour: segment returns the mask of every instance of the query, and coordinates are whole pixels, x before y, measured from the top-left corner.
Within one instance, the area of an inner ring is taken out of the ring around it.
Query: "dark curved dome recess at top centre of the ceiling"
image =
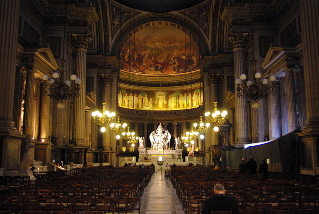
[[[169,12],[195,6],[205,0],[115,0],[125,6],[148,12]]]

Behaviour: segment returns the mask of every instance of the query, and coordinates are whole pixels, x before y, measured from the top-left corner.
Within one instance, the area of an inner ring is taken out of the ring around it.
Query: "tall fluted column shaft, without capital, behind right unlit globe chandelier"
[[[240,75],[245,73],[245,49],[234,49],[234,70],[235,79],[239,79]],[[237,85],[236,85],[237,86]],[[235,88],[236,88],[235,86]],[[248,136],[248,113],[247,113],[247,99],[237,98],[237,91],[235,91],[235,105],[236,105],[236,145],[243,145],[249,142]]]

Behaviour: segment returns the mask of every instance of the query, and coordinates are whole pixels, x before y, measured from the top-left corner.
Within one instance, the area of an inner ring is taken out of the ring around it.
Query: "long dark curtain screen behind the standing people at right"
[[[267,144],[240,150],[222,150],[222,167],[238,168],[242,158],[248,161],[250,156],[254,156],[258,165],[263,162],[264,158],[269,159],[270,171],[298,173],[300,156],[298,155],[297,133],[299,130],[297,129]]]

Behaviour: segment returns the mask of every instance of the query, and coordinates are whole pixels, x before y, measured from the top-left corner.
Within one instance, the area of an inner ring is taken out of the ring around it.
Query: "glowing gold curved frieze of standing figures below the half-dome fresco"
[[[120,88],[118,105],[141,110],[180,110],[203,104],[201,88],[183,91],[137,91]]]

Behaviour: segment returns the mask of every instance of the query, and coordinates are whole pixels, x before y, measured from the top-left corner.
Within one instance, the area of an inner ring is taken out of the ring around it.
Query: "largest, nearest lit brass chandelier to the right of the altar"
[[[205,119],[209,123],[209,125],[206,124],[206,127],[213,127],[213,130],[215,132],[219,131],[219,127],[221,125],[226,125],[227,120],[225,119],[225,116],[227,115],[227,111],[223,111],[220,113],[220,111],[217,110],[217,102],[214,102],[214,113],[211,114],[211,117],[209,117],[210,112],[207,111],[205,113]]]

